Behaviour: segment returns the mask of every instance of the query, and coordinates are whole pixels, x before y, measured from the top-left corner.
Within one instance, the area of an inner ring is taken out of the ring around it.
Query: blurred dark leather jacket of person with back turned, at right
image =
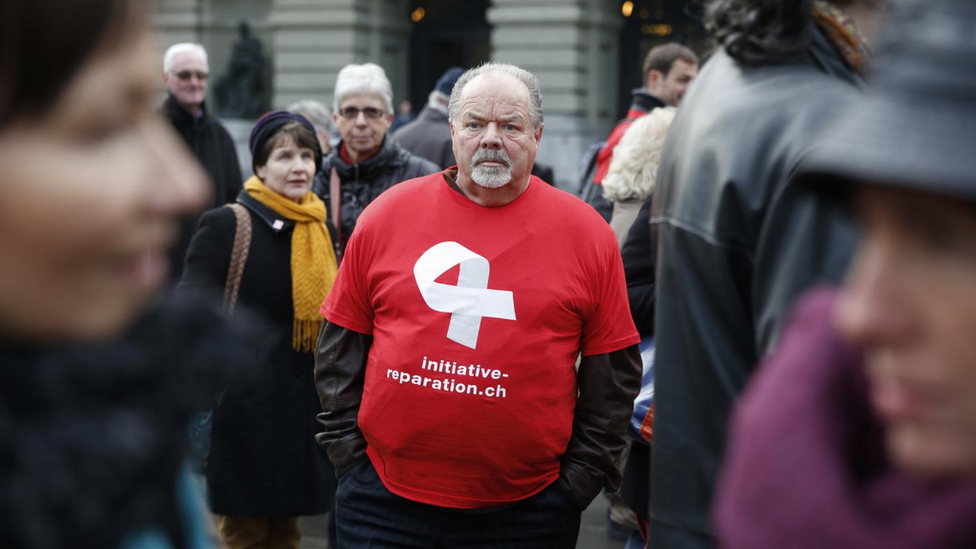
[[[716,52],[678,109],[651,206],[653,547],[712,546],[729,409],[793,297],[845,271],[850,222],[791,178],[860,82],[817,31],[795,63],[744,67]]]

